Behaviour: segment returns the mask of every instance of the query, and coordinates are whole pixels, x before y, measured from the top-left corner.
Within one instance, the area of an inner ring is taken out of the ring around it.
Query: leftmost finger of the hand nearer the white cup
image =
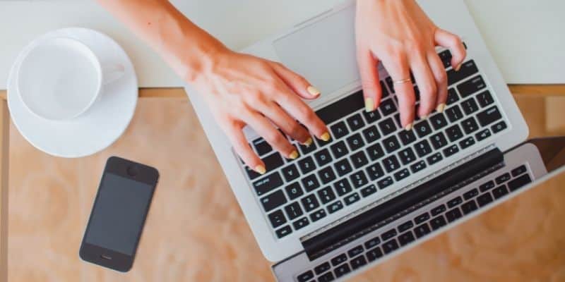
[[[244,163],[257,173],[265,174],[265,164],[257,156],[254,150],[251,149],[251,145],[247,142],[242,131],[244,125],[245,124],[241,121],[220,123],[222,130],[226,133],[227,138],[232,143],[234,151],[242,158]]]

